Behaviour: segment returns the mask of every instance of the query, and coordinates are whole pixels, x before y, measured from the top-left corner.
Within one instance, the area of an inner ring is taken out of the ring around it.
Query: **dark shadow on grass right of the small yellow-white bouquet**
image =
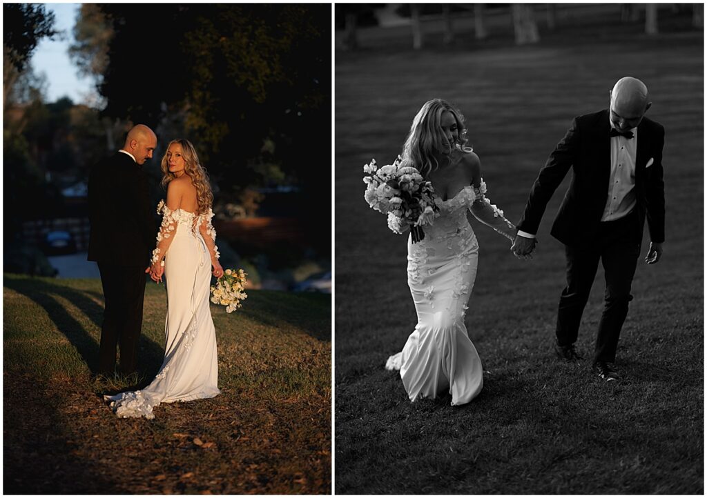
[[[319,340],[332,340],[332,297],[321,294],[297,294],[259,290],[251,292],[238,313],[278,326],[286,322]]]

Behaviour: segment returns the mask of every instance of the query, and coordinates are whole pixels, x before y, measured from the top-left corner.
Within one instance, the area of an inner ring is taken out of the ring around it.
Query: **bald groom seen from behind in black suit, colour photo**
[[[136,371],[145,268],[157,233],[142,165],[156,146],[154,132],[138,124],[128,132],[124,146],[98,162],[88,179],[88,261],[98,262],[105,297],[98,374],[115,373],[118,344],[118,372]]]

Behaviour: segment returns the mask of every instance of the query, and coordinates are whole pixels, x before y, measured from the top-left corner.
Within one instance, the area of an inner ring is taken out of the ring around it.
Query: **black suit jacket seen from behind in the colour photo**
[[[147,267],[157,235],[149,203],[146,174],[129,155],[98,162],[88,177],[88,260]]]

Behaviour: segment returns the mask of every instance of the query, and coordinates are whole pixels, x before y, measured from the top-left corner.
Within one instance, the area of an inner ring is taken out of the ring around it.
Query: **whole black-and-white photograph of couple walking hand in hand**
[[[334,492],[703,494],[703,5],[334,9]]]

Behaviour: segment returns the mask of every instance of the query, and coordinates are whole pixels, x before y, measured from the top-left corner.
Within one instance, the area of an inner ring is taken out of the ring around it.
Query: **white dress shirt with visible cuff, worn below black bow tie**
[[[609,121],[611,124],[611,121]],[[613,124],[612,124],[613,127]],[[604,206],[602,221],[613,221],[631,213],[636,206],[636,143],[638,127],[632,128],[633,138],[612,136],[612,169],[609,172],[609,196]],[[534,239],[535,235],[518,230],[518,235]]]

